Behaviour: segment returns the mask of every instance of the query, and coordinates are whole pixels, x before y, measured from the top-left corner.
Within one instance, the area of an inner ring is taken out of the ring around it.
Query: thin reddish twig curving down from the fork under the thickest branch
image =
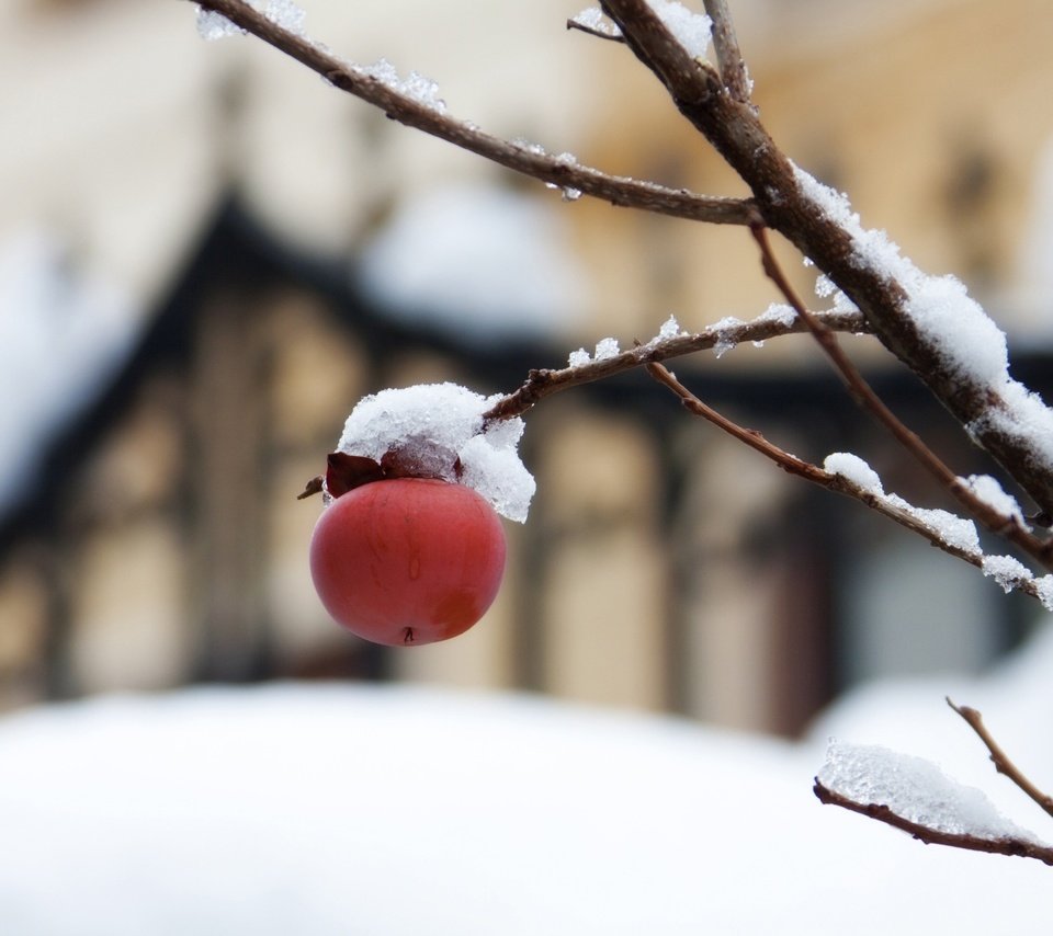
[[[808,311],[800,296],[797,296],[796,290],[779,266],[779,261],[775,260],[771,244],[768,241],[766,228],[762,225],[750,225],[749,230],[760,248],[765,273],[768,274],[785,300],[804,320],[808,327],[808,331],[812,332],[812,335],[818,342],[827,357],[830,358],[857,402],[884,425],[885,429],[892,433],[893,437],[936,478],[940,486],[992,533],[1005,537],[1045,569],[1053,569],[1053,557],[1050,556],[1050,549],[1043,540],[1032,535],[1017,520],[1007,517],[1005,514],[992,507],[986,501],[976,496],[972,490],[962,482],[958,475],[925,444],[921,437],[907,429],[907,426],[899,421],[899,418],[885,406],[884,401],[863,378],[859,368],[851,362],[848,355],[845,354],[837,341],[837,335],[826,328],[824,322],[816,319],[815,316]]]

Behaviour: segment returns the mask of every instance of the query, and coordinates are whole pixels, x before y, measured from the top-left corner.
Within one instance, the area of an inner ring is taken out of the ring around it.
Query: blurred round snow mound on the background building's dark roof
[[[403,203],[361,251],[356,273],[385,311],[468,343],[551,339],[589,294],[563,213],[469,184]]]

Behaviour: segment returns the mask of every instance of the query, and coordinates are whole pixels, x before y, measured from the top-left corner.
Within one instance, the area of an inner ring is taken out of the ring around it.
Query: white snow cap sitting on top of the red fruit
[[[536,484],[517,452],[523,421],[484,424],[497,399],[456,384],[382,390],[359,401],[337,448],[376,461],[398,452],[429,475],[473,488],[499,514],[522,523]]]

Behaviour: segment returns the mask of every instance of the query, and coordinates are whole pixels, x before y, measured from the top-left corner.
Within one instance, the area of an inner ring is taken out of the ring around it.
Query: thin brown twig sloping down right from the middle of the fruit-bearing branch
[[[652,377],[663,386],[668,387],[680,398],[681,403],[689,412],[707,420],[713,423],[713,425],[728,433],[728,435],[748,445],[755,452],[759,452],[766,458],[778,465],[783,471],[794,475],[797,478],[803,478],[805,481],[811,481],[813,484],[818,484],[828,491],[835,491],[836,493],[845,494],[852,500],[859,501],[875,513],[887,517],[893,521],[893,523],[922,537],[929,545],[964,562],[969,562],[977,569],[983,568],[984,556],[978,550],[971,550],[948,543],[936,529],[922,520],[919,520],[918,516],[891,503],[886,498],[857,484],[842,475],[834,475],[819,468],[817,465],[813,465],[811,461],[805,461],[795,455],[791,455],[756,430],[745,429],[738,425],[738,423],[733,422],[700,400],[661,364],[653,363],[645,365],[645,367]],[[1018,584],[1018,589],[1038,601],[1042,600],[1039,594],[1039,587],[1033,579],[1021,581]]]

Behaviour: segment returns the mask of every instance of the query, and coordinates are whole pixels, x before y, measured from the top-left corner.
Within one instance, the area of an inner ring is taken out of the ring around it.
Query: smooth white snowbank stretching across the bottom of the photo
[[[522,696],[278,685],[0,720],[0,932],[1043,932],[1053,869],[822,807],[828,734],[939,761],[1046,841],[943,704],[1053,787],[1053,631],[800,745]]]

